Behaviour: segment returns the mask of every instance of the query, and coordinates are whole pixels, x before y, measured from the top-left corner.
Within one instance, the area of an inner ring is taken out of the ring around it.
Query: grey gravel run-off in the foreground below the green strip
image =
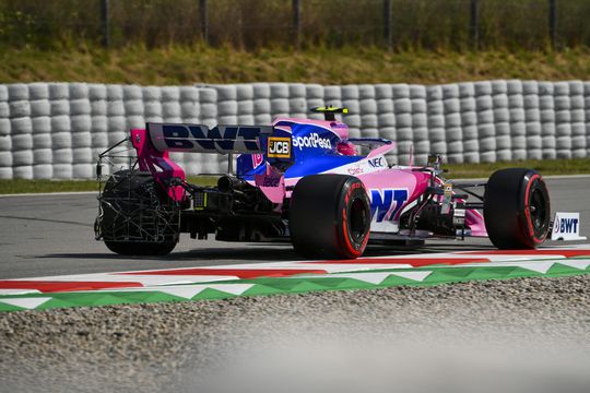
[[[589,392],[590,275],[0,313],[1,392]]]

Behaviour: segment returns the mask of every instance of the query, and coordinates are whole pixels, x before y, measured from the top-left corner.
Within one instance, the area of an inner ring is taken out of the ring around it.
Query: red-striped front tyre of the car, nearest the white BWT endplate
[[[498,249],[532,249],[550,229],[551,204],[541,175],[526,168],[497,170],[484,194],[484,221],[489,240]]]

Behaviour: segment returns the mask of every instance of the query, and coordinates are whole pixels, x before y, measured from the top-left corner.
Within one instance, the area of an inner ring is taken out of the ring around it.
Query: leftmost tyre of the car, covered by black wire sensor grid
[[[167,214],[162,210],[165,195],[160,191],[149,174],[125,169],[108,178],[95,230],[110,251],[121,255],[167,255],[174,250],[178,234],[158,218]],[[150,241],[142,241],[146,237]]]

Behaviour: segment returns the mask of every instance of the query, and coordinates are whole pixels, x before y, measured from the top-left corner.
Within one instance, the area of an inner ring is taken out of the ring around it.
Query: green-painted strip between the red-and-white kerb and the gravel
[[[400,277],[394,273],[403,272],[432,272],[422,282]],[[384,281],[377,284],[368,283],[362,278],[363,274],[384,273]],[[387,275],[391,273],[391,275]],[[28,294],[28,295],[5,295],[0,296],[0,311],[17,311],[24,310],[26,307],[19,307],[8,303],[11,300],[26,301],[26,299],[43,299],[49,298],[47,301],[36,306],[36,310],[46,310],[64,307],[95,307],[109,305],[132,305],[132,303],[151,303],[162,301],[190,301],[190,300],[215,300],[227,299],[237,296],[263,296],[263,295],[280,295],[280,294],[300,294],[319,290],[349,290],[349,289],[371,289],[387,288],[400,285],[410,286],[432,286],[439,284],[460,283],[468,281],[484,281],[484,279],[507,279],[517,277],[563,277],[580,274],[590,274],[590,266],[586,270],[580,270],[560,264],[555,261],[552,267],[546,273],[540,273],[519,266],[424,266],[420,269],[389,269],[379,271],[354,272],[357,278],[343,277],[346,273],[322,276],[293,276],[293,277],[271,277],[271,278],[253,278],[253,279],[234,279],[227,282],[215,282],[211,285],[232,285],[232,284],[249,284],[250,288],[234,295],[219,288],[204,288],[198,291],[190,299],[187,297],[176,296],[164,293],[166,286],[162,286],[161,290],[149,288],[146,290],[97,290],[97,291],[80,291],[80,293],[55,293],[55,294]],[[187,284],[187,288],[191,285],[199,287],[208,284]],[[175,286],[184,287],[184,286]],[[3,300],[8,301],[4,302]],[[30,306],[31,307],[31,306]]]

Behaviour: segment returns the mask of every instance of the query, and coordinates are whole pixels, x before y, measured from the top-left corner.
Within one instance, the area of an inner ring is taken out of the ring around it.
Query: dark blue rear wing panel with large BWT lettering
[[[215,126],[146,123],[148,134],[158,152],[264,153],[272,126]]]

